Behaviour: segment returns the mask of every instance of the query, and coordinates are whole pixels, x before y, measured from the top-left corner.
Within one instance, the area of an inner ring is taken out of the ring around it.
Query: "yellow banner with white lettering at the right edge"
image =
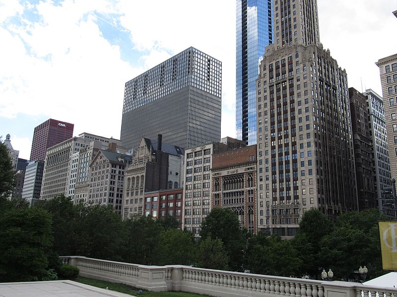
[[[397,221],[379,222],[382,266],[385,270],[397,270]]]

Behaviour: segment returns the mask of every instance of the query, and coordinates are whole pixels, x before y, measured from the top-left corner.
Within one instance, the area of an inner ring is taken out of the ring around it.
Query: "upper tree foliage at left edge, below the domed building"
[[[0,139],[0,209],[4,201],[11,195],[14,188],[15,172],[8,156],[8,148]]]

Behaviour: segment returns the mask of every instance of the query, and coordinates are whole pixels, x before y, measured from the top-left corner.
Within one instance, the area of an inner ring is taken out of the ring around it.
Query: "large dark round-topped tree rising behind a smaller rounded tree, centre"
[[[200,236],[220,239],[229,257],[229,268],[241,271],[245,242],[237,215],[227,208],[213,208],[201,223]]]

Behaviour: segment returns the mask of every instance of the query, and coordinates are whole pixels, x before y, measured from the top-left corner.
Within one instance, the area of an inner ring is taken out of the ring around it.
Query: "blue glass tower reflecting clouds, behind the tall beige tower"
[[[272,43],[272,0],[236,1],[236,138],[257,143],[255,80]]]

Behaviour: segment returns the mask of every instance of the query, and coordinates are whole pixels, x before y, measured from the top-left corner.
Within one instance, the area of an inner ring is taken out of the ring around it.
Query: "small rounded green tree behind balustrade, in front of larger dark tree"
[[[207,269],[228,270],[229,256],[219,238],[206,237],[199,245],[196,266]]]

